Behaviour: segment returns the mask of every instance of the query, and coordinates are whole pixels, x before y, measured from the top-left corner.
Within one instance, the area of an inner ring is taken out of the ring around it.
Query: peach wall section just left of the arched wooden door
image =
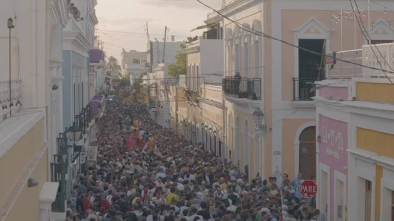
[[[282,128],[282,171],[289,174],[289,177],[295,177],[294,174],[294,140],[298,128],[308,122],[314,122],[314,119],[283,119]]]

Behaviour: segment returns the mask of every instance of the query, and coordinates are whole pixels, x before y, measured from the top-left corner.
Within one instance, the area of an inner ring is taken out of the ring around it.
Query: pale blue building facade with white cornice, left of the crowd
[[[84,127],[86,110],[89,109],[90,99],[94,96],[91,83],[94,77],[91,72],[90,50],[95,49],[94,30],[98,24],[95,6],[97,0],[71,1],[79,11],[79,16],[68,21],[63,30],[63,127],[69,128],[75,123],[78,127]],[[93,52],[95,53],[95,52]],[[100,64],[101,65],[101,64]],[[63,128],[63,129],[64,129]],[[85,128],[85,127],[84,127]],[[61,133],[65,132],[62,130]],[[84,136],[79,141],[68,140],[71,146],[82,147],[86,151],[89,147],[89,136],[84,129]],[[59,133],[58,138],[62,138]],[[80,162],[84,162],[83,156],[77,154],[77,148],[68,149],[68,170],[66,179],[66,194],[70,194],[73,183],[76,182],[76,174],[81,171]],[[75,153],[74,153],[75,151]],[[80,151],[79,151],[80,152]],[[72,157],[74,156],[74,157]],[[78,156],[75,158],[75,156]],[[80,158],[81,157],[81,158]],[[86,156],[85,156],[86,157]]]

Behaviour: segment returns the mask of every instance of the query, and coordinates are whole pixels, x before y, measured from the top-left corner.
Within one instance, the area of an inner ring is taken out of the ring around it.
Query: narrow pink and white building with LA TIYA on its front
[[[329,86],[320,89],[315,97],[319,186],[316,204],[323,213],[327,213],[328,220],[344,221],[347,211],[349,117],[341,101],[348,100],[348,80],[340,84],[328,82]]]

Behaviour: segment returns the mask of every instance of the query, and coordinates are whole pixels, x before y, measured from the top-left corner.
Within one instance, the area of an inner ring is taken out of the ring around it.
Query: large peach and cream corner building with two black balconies
[[[381,4],[394,7],[393,1]],[[368,23],[366,1],[359,7],[374,42],[393,39],[393,12],[371,2]],[[241,168],[248,165],[250,177],[316,176],[316,111],[312,85],[306,82],[327,78],[329,66],[322,56],[258,32],[320,53],[359,49],[365,41],[349,1],[224,0],[219,12],[236,21],[224,19],[223,26],[225,143],[232,161]],[[232,79],[237,71],[239,91]],[[260,136],[253,120],[257,108],[265,114]]]

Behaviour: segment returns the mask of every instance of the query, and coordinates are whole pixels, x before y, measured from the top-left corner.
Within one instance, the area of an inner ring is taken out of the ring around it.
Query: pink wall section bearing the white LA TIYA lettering
[[[334,217],[334,171],[347,176],[347,123],[319,115],[319,161],[329,166],[330,217]],[[346,188],[346,186],[344,187]]]

